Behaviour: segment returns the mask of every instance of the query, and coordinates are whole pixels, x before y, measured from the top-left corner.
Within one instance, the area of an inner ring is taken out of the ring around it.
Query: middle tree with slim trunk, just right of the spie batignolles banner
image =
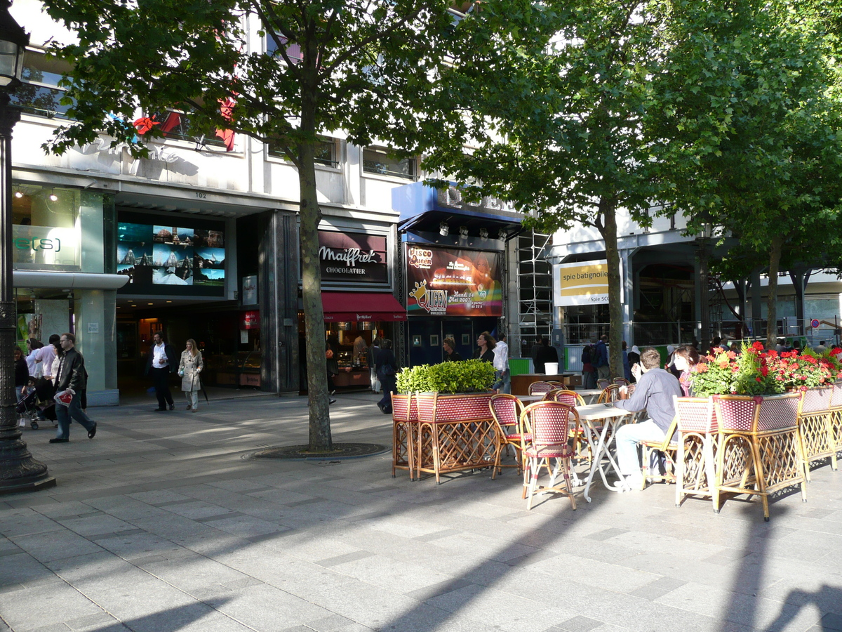
[[[625,208],[647,225],[660,198],[642,115],[660,63],[663,8],[651,0],[545,6],[554,11],[552,46],[498,51],[498,63],[516,71],[504,81],[494,67],[465,72],[482,114],[482,126],[471,131],[476,147],[469,155],[437,153],[433,163],[477,191],[513,201],[544,231],[575,222],[599,230],[609,270],[610,367],[621,376],[616,212]]]

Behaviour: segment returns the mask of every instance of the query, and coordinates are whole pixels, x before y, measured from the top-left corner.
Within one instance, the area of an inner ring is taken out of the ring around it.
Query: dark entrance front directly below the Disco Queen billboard
[[[497,332],[497,319],[480,317],[411,317],[409,319],[409,366],[438,364],[444,360],[441,348],[445,338],[456,340],[456,352],[470,360],[477,349],[477,337],[483,331]]]

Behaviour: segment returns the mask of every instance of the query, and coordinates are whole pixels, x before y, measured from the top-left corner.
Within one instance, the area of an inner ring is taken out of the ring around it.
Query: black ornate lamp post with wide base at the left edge
[[[29,35],[0,0],[0,494],[56,485],[47,466],[32,458],[15,414],[13,347],[17,309],[12,276],[12,128],[20,110],[9,107],[9,94],[20,85]]]

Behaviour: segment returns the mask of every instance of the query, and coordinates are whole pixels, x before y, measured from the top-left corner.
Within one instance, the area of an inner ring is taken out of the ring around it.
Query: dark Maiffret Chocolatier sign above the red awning
[[[387,283],[388,250],[385,237],[363,233],[318,232],[322,281]]]

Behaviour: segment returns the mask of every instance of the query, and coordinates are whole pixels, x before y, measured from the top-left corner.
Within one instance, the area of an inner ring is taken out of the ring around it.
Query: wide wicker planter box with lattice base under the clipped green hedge
[[[491,415],[493,391],[482,393],[418,393],[418,436],[415,469],[440,474],[493,467],[497,432]]]

